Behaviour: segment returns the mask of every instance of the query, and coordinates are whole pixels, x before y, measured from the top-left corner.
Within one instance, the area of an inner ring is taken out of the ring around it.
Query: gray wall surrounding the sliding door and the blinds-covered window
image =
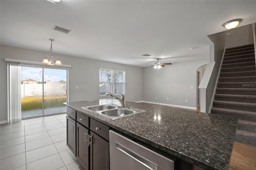
[[[4,58],[42,61],[48,52],[0,46],[0,121],[7,120],[7,62]],[[126,71],[126,101],[142,101],[142,68],[105,61],[54,54],[62,64],[72,65],[69,72],[69,101],[100,99],[99,68]],[[78,89],[75,87],[78,86]],[[133,97],[133,99],[132,99]]]

